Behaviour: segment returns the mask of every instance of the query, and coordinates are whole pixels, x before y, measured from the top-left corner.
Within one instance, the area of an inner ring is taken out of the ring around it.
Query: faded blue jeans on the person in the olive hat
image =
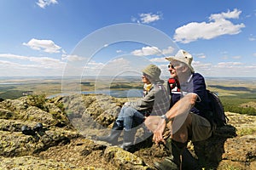
[[[116,121],[124,122],[124,129],[130,131],[132,127],[143,123],[144,116],[130,106],[123,106]]]

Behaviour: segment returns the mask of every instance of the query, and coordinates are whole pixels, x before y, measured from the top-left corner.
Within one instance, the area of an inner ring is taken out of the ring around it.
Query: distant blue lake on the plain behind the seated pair
[[[141,98],[143,97],[143,90],[142,89],[96,90],[96,91],[81,92],[81,94],[107,94],[115,98]],[[50,95],[48,99],[54,98],[59,95],[68,95],[68,94],[54,94],[54,95]]]

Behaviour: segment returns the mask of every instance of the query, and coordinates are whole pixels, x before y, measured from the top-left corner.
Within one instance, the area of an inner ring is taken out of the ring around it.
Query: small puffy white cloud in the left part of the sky
[[[61,47],[56,45],[55,42],[51,40],[38,40],[32,38],[29,42],[23,42],[23,45],[26,45],[34,50],[44,50],[45,53],[60,53]]]

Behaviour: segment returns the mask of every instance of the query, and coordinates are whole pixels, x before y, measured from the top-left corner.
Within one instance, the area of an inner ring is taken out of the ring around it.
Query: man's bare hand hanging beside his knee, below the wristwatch
[[[166,141],[163,138],[163,133],[165,131],[165,128],[166,128],[165,119],[160,119],[160,122],[159,122],[158,126],[154,130],[153,141],[154,141],[155,144],[160,144],[161,142],[166,144]]]

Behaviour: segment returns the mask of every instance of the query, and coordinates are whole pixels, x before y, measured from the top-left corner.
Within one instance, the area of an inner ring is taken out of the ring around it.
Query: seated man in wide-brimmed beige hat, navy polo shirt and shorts
[[[170,92],[171,109],[163,116],[149,116],[145,121],[154,132],[154,142],[164,143],[169,154],[154,166],[157,169],[199,169],[187,143],[212,135],[211,123],[206,118],[210,110],[206,83],[201,74],[195,73],[191,66],[193,57],[188,52],[179,50],[166,59],[170,61],[168,70],[176,82],[176,88],[171,88]]]

